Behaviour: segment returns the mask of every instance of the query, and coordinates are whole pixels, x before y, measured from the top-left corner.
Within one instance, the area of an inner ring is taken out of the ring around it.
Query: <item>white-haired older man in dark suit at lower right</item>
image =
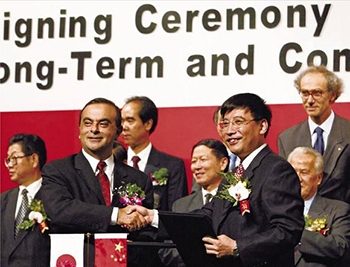
[[[350,266],[350,205],[317,193],[323,177],[322,155],[309,147],[297,147],[288,156],[301,184],[305,201],[305,229],[295,249],[297,267]],[[325,220],[315,226],[315,220]]]

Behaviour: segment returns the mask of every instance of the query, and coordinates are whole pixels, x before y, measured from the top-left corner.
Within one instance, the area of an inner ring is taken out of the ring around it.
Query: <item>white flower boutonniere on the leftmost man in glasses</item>
[[[20,223],[18,228],[22,230],[28,230],[29,228],[34,229],[33,226],[37,223],[42,234],[46,230],[49,230],[47,226],[47,221],[49,219],[47,218],[43,202],[34,198],[30,203],[29,210],[28,219]]]

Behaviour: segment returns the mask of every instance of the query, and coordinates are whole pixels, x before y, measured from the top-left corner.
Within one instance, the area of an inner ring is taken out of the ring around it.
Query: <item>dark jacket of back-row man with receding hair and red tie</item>
[[[145,173],[148,177],[160,168],[167,168],[169,177],[164,186],[154,186],[154,208],[171,210],[173,202],[187,196],[187,178],[183,161],[174,156],[160,152],[152,146]]]

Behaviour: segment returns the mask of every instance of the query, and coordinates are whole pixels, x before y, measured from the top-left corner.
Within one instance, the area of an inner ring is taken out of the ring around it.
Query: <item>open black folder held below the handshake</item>
[[[215,255],[205,252],[204,236],[216,237],[210,218],[203,214],[160,211],[159,218],[176,244],[186,266],[219,266]]]

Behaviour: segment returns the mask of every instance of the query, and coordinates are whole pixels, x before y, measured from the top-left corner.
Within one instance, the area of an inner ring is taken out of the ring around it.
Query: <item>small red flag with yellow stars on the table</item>
[[[126,267],[127,234],[95,234],[95,267]]]

